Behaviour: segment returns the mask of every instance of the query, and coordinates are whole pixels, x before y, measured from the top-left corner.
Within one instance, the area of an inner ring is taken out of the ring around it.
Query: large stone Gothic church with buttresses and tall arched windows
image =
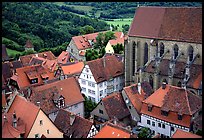
[[[202,8],[138,7],[125,40],[125,85],[163,82],[202,95]]]

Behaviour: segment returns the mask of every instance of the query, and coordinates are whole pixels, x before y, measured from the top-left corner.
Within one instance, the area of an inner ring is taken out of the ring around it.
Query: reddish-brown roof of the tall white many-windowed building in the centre
[[[113,55],[88,61],[87,65],[90,67],[90,70],[97,83],[124,74],[123,63],[119,62]]]

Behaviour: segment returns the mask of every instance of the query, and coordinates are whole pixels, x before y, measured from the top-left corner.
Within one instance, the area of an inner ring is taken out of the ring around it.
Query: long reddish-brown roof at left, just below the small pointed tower
[[[42,58],[46,58],[46,59],[49,59],[49,60],[56,59],[56,57],[54,56],[54,54],[51,51],[46,51],[46,52],[41,52],[41,53],[36,53],[36,54],[24,55],[24,56],[20,56],[19,59],[20,59],[21,63],[23,64],[23,66],[28,66],[29,62],[30,62],[30,60],[31,60],[31,58],[33,56],[42,57]]]

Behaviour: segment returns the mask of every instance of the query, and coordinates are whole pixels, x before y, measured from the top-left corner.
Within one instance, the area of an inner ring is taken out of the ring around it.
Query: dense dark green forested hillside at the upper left
[[[20,51],[27,39],[30,39],[35,50],[39,51],[69,42],[72,36],[86,31],[98,32],[107,29],[109,26],[103,21],[80,17],[55,4],[2,3],[2,42],[15,44],[12,49]]]

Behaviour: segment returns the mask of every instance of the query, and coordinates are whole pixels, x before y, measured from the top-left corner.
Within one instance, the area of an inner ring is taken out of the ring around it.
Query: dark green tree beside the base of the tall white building
[[[85,110],[85,118],[90,117],[91,111],[96,107],[96,103],[92,100],[88,99],[86,96],[84,96],[85,102],[84,102],[84,110]]]

